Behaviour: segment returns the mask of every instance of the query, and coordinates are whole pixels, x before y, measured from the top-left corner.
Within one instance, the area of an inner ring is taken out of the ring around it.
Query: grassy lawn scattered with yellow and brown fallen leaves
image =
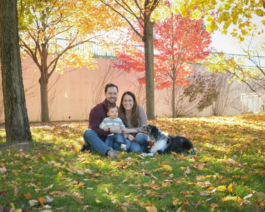
[[[0,150],[0,211],[264,211],[265,114],[150,123],[200,152],[110,161],[78,153],[86,122],[32,123],[32,147]]]

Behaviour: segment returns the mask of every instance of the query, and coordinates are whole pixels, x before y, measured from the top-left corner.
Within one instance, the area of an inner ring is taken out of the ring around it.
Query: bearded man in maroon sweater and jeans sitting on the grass
[[[104,131],[99,128],[100,123],[107,117],[108,105],[115,104],[118,98],[118,87],[115,84],[109,83],[105,86],[105,100],[92,107],[89,113],[89,129],[86,129],[83,138],[85,144],[82,145],[80,151],[91,150],[98,151],[103,155],[108,155],[114,158],[117,155],[116,150],[121,150],[120,145],[114,143],[114,149],[105,144],[107,135],[111,133],[122,133],[121,126],[115,125],[109,128],[108,131]],[[131,142],[126,139],[128,149],[130,149]],[[116,144],[116,145],[115,145]]]

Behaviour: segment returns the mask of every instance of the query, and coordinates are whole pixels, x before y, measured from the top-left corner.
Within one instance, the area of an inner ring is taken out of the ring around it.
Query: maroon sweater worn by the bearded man
[[[108,101],[105,99],[103,102],[94,105],[89,113],[88,128],[94,130],[99,137],[107,137],[107,135],[111,134],[109,129],[108,131],[104,131],[99,128],[103,119],[108,117],[107,107]]]

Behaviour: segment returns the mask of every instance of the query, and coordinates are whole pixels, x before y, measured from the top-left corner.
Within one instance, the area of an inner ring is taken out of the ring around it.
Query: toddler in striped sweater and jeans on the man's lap
[[[104,118],[102,123],[99,125],[100,129],[108,131],[108,128],[111,128],[114,125],[120,125],[121,128],[125,128],[122,120],[118,118],[118,107],[116,105],[109,105],[107,107],[107,115],[108,117]],[[120,144],[122,150],[127,150],[126,140],[122,133],[111,133],[107,136],[105,141],[106,145],[113,148],[114,142]]]

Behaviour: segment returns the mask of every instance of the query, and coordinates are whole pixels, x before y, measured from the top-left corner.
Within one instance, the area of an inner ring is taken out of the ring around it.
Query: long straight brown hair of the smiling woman
[[[138,103],[136,101],[135,95],[130,92],[130,91],[126,91],[123,93],[122,97],[121,97],[121,104],[120,104],[120,108],[119,108],[119,115],[120,118],[123,122],[123,124],[128,127],[128,120],[126,118],[126,114],[125,114],[125,108],[123,107],[122,101],[123,101],[123,96],[125,95],[130,95],[133,100],[134,100],[134,105],[133,105],[133,110],[132,110],[132,114],[131,114],[131,125],[134,127],[138,127],[139,126],[139,118],[138,118]]]

